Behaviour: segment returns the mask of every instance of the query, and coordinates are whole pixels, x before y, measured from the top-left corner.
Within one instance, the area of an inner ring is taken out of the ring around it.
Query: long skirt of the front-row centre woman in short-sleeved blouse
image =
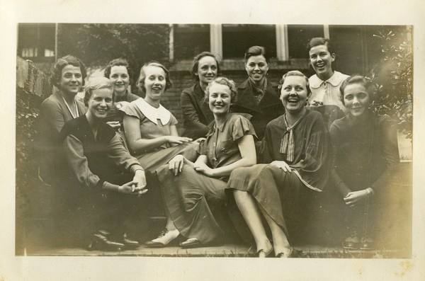
[[[164,165],[157,170],[162,195],[176,229],[203,244],[220,239],[224,231],[215,218],[225,211],[226,182],[185,165],[177,176]]]

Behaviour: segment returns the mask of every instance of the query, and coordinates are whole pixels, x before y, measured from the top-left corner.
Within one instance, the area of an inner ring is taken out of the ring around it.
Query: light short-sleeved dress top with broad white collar
[[[168,122],[166,122],[166,124],[163,124],[162,120],[166,120],[168,118],[164,118],[164,117],[162,119],[158,118],[156,120],[157,124],[155,124],[153,120],[149,120],[147,115],[142,113],[140,108],[137,106],[137,101],[132,101],[131,103],[128,103],[127,105],[123,106],[123,108],[120,108],[120,110],[128,116],[136,117],[137,119],[139,119],[140,137],[142,139],[156,139],[157,137],[164,137],[164,136],[171,135],[170,127],[176,125],[178,122],[176,117],[174,117],[174,115],[172,115],[169,112],[169,110],[166,110],[165,108],[163,108],[164,113],[168,113],[170,115],[169,120]],[[149,105],[149,106],[152,106],[152,105]],[[142,156],[143,154],[147,154],[148,152],[159,151],[161,149],[166,149],[168,147],[170,147],[170,144],[164,143],[160,147],[157,147],[156,149],[149,150],[149,151],[142,151],[141,153],[138,153],[138,154],[135,151],[130,151],[130,152],[132,153],[132,155]]]

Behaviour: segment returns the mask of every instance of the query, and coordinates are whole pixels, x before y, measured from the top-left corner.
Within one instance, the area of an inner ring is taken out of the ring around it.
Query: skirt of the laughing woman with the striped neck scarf
[[[237,168],[232,171],[227,183],[227,195],[230,190],[242,190],[251,194],[259,207],[266,211],[276,224],[285,232],[288,239],[288,220],[295,222],[302,212],[302,202],[313,191],[307,188],[295,173],[285,173],[270,164],[257,164],[251,167]],[[237,210],[234,200],[229,200],[229,214],[240,236],[249,243],[253,242],[244,218]],[[285,220],[286,219],[286,220]]]

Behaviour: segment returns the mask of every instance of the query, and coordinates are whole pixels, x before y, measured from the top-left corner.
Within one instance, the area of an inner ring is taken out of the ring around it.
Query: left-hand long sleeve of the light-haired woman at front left
[[[71,168],[73,176],[81,185],[90,189],[118,189],[118,185],[101,180],[101,178],[90,171],[89,162],[86,156],[84,156],[83,144],[77,137],[69,134],[64,139],[63,149],[69,168]]]

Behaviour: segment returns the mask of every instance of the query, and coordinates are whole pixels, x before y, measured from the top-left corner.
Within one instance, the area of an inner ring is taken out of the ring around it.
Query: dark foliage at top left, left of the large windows
[[[166,24],[61,24],[58,55],[76,55],[88,66],[105,67],[111,59],[125,57],[132,86],[145,62],[168,62],[169,25]]]

